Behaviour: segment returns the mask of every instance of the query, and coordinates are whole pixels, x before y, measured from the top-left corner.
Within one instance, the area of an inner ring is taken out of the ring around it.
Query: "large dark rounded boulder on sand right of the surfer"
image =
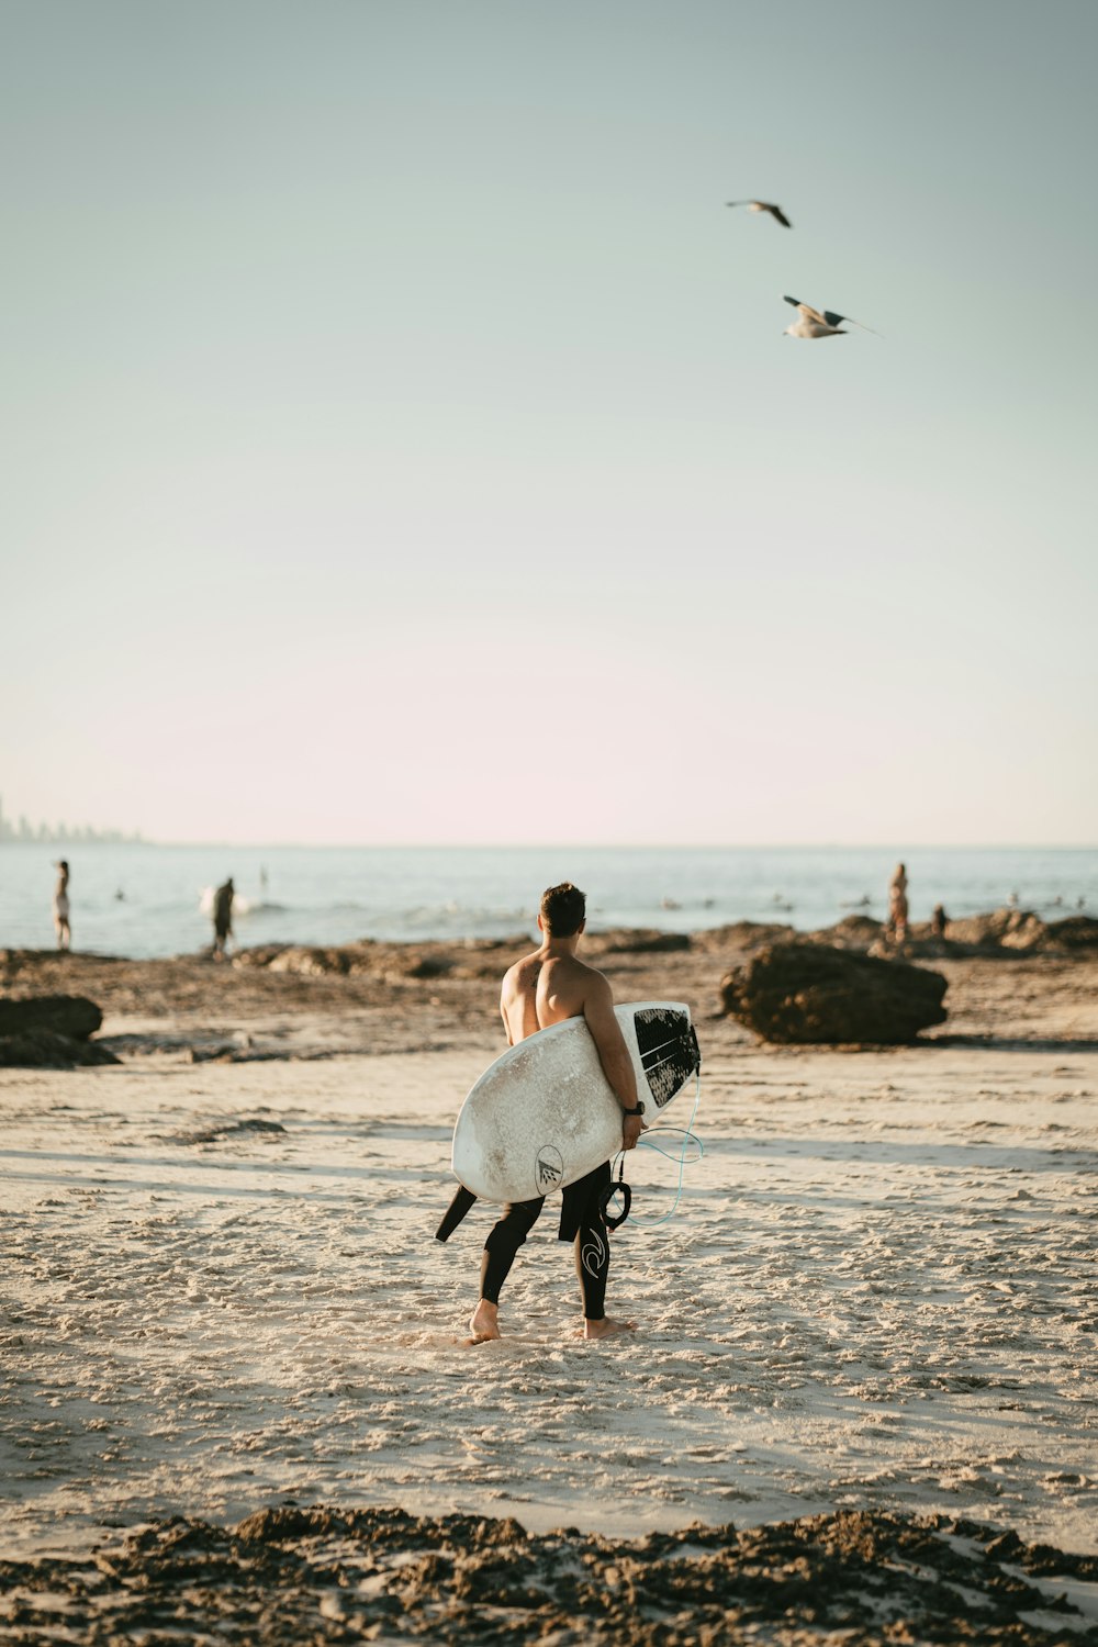
[[[721,980],[721,1003],[764,1041],[897,1046],[945,1023],[947,980],[820,942],[770,944]]]

